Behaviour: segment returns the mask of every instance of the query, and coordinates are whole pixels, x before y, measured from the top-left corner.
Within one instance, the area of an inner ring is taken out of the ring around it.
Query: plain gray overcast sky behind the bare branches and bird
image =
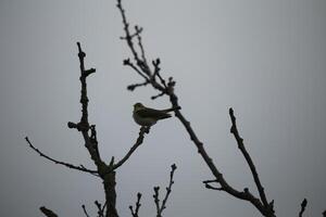
[[[123,1],[129,21],[145,27],[149,59],[177,80],[183,112],[226,180],[238,189],[253,180],[229,133],[228,107],[256,164],[278,216],[326,208],[326,1],[139,0]],[[29,150],[27,135],[51,156],[93,168],[79,133],[66,127],[80,117],[76,41],[87,53],[89,118],[102,155],[120,158],[138,136],[131,105],[151,101],[151,88],[128,92],[141,79],[122,61],[129,56],[115,1],[1,0],[0,2],[0,216],[83,216],[103,197],[93,177],[46,162]],[[260,216],[249,203],[204,189],[212,178],[176,118],[159,123],[117,173],[117,206],[143,193],[141,216],[154,216],[153,186],[165,187],[176,163],[165,216]],[[164,188],[163,188],[164,189]],[[256,193],[256,192],[255,192]],[[95,213],[93,213],[95,214]]]

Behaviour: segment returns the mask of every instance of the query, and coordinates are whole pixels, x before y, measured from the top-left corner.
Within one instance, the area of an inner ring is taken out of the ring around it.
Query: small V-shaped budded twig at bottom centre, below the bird
[[[177,167],[175,164],[171,165],[170,182],[168,182],[168,186],[166,187],[166,193],[165,193],[165,196],[164,196],[161,205],[160,205],[160,187],[154,187],[153,197],[154,197],[154,203],[156,206],[156,217],[162,217],[162,213],[163,213],[164,208],[166,208],[166,202],[167,202],[167,199],[172,191],[172,184],[174,183],[173,176],[174,176],[174,171],[176,170],[176,168]]]

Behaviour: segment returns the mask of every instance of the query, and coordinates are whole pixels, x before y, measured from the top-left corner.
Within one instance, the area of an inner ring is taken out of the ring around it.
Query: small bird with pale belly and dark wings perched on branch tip
[[[168,114],[168,112],[177,111],[180,108],[180,106],[177,106],[167,110],[154,110],[146,107],[140,102],[137,102],[136,104],[134,104],[133,117],[138,125],[150,127],[156,124],[159,119],[171,117],[171,114]]]

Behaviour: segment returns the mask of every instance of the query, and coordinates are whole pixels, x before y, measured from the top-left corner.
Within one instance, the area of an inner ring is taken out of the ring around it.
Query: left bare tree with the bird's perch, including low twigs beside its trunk
[[[70,164],[66,162],[61,162],[61,161],[54,159],[53,157],[45,154],[43,152],[41,152],[40,150],[35,148],[35,145],[30,142],[28,137],[26,137],[25,140],[29,144],[30,149],[33,149],[40,156],[45,157],[46,159],[48,159],[50,162],[53,162],[54,164],[63,165],[71,169],[76,169],[76,170],[88,173],[92,176],[99,177],[103,183],[105,200],[103,203],[95,201],[95,205],[97,206],[97,209],[98,209],[98,216],[99,217],[117,217],[118,214],[116,210],[116,191],[115,191],[116,170],[121,166],[123,166],[129,159],[129,157],[133,155],[133,153],[137,150],[137,148],[139,148],[142,144],[145,135],[150,132],[150,128],[140,127],[139,135],[138,135],[138,138],[136,139],[136,142],[130,148],[130,150],[125,154],[125,156],[122,157],[116,163],[115,163],[115,159],[113,156],[112,156],[110,163],[105,163],[101,158],[99,145],[98,145],[98,139],[97,139],[96,125],[89,124],[89,120],[88,120],[89,99],[87,95],[87,78],[88,78],[88,76],[95,74],[96,69],[95,68],[86,69],[85,64],[84,64],[86,53],[82,50],[82,46],[79,42],[77,42],[77,46],[78,46],[78,58],[79,58],[79,63],[80,63],[79,80],[80,80],[80,87],[82,87],[82,90],[80,90],[82,117],[78,123],[73,123],[73,122],[67,123],[67,127],[71,129],[76,129],[76,130],[80,131],[84,142],[85,142],[84,145],[87,149],[89,156],[96,166],[96,169],[88,169],[83,165],[76,166],[76,165],[73,165],[73,164]],[[154,202],[156,204],[158,217],[162,216],[162,212],[166,207],[166,202],[167,202],[168,195],[172,191],[172,184],[174,183],[173,176],[174,176],[174,171],[176,170],[176,168],[177,168],[176,165],[173,164],[171,175],[170,175],[170,184],[166,188],[166,194],[165,194],[165,197],[161,205],[160,205],[160,200],[159,200],[159,189],[160,188],[154,187],[154,199],[155,199]],[[139,207],[140,207],[140,199],[141,199],[141,193],[138,193],[135,210],[133,209],[133,206],[129,206],[133,216],[138,216],[138,212],[139,212]],[[85,205],[82,205],[82,208],[83,208],[84,214],[87,217],[90,216],[88,214],[88,212],[86,210]],[[43,215],[46,215],[48,217],[57,217],[58,216],[53,210],[51,210],[45,206],[40,207],[40,210],[43,213]]]

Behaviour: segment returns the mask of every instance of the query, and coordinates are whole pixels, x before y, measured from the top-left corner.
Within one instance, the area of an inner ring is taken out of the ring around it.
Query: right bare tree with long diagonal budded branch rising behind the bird
[[[153,89],[158,91],[156,95],[152,95],[151,99],[155,100],[160,97],[167,97],[172,104],[172,107],[180,107],[178,102],[178,97],[175,91],[176,81],[173,77],[163,78],[161,76],[161,61],[160,59],[155,59],[151,61],[151,64],[148,63],[148,58],[145,52],[145,48],[141,40],[141,31],[142,28],[138,25],[135,25],[134,30],[130,29],[130,24],[127,21],[126,12],[122,5],[122,0],[117,0],[117,8],[121,12],[124,33],[125,36],[121,37],[121,39],[125,40],[129,51],[131,53],[130,59],[124,60],[124,65],[130,67],[134,72],[136,72],[140,77],[143,78],[143,81],[129,85],[127,87],[128,90],[134,91],[138,87],[151,86]],[[138,46],[138,48],[137,48]],[[138,51],[139,50],[139,51]],[[264,187],[260,180],[256,166],[254,165],[252,157],[246,149],[243,143],[243,139],[240,137],[240,133],[237,128],[236,116],[234,114],[234,110],[229,108],[229,117],[231,120],[230,132],[234,135],[236,142],[240,152],[242,153],[246,163],[248,164],[252,178],[254,180],[256,190],[259,195],[254,195],[251,193],[249,188],[244,188],[243,190],[238,190],[233,187],[223,176],[218,167],[214,164],[213,159],[210,157],[209,153],[205,151],[203,142],[200,141],[196,131],[190,125],[190,122],[183,115],[181,111],[175,111],[175,116],[179,119],[179,122],[184,125],[185,130],[190,136],[192,143],[196,145],[198,153],[201,155],[202,159],[205,162],[206,166],[212,173],[214,177],[211,180],[205,180],[203,183],[205,188],[211,190],[224,191],[230,194],[234,197],[239,200],[250,202],[263,216],[266,217],[275,217],[274,210],[274,200],[269,201],[266,196]],[[212,186],[212,183],[218,184],[217,187]],[[301,210],[299,216],[302,216],[306,207],[306,199],[303,200],[301,204]],[[324,214],[325,215],[325,214]]]

